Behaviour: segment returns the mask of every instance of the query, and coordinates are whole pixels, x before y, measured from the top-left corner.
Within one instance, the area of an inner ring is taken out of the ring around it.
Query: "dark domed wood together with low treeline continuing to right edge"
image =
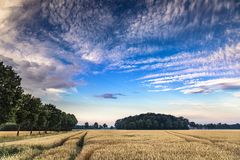
[[[116,129],[240,129],[240,124],[196,124],[184,117],[146,113],[129,116],[115,122]]]

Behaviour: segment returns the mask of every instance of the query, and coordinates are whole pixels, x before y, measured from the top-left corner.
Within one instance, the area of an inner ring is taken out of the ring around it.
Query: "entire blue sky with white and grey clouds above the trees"
[[[80,124],[240,123],[238,0],[1,0],[0,61]]]

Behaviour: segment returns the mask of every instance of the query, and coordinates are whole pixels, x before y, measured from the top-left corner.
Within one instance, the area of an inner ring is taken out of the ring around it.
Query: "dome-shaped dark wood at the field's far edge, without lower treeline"
[[[172,115],[146,113],[119,119],[117,129],[189,129],[188,119]]]

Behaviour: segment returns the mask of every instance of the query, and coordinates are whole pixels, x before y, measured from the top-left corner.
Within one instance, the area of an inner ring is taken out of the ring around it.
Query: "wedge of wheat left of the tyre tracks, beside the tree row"
[[[81,134],[81,131],[67,132],[0,143],[0,159],[34,159],[41,154],[45,154],[47,150],[50,151],[53,148],[65,145],[65,143],[68,143],[68,140],[71,140],[74,136],[78,135],[80,138]],[[56,152],[56,154],[59,154],[59,152]]]

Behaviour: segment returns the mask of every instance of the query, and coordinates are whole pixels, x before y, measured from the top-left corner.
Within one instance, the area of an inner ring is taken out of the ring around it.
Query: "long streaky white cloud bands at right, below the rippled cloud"
[[[139,64],[141,66],[138,66]],[[179,53],[167,58],[146,60],[143,63],[127,62],[126,65],[135,65],[136,70],[158,71],[137,79],[152,87],[181,83],[182,87],[175,87],[173,90],[182,90],[184,93],[209,92],[225,89],[224,86],[229,89],[230,85],[237,87],[239,83],[240,43],[226,45],[212,52]]]

